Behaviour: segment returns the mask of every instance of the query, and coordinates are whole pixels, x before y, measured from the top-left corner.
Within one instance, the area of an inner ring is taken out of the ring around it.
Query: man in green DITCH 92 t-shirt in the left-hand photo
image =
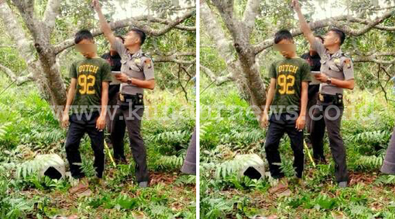
[[[95,170],[102,183],[104,171],[104,132],[106,107],[108,103],[108,83],[111,81],[111,68],[106,60],[97,56],[93,36],[88,30],[75,34],[75,48],[84,56],[71,64],[71,83],[64,108],[62,126],[69,126],[65,149],[70,165],[71,176],[80,179],[70,193],[88,190],[88,181],[81,171],[81,156],[78,148],[85,133],[91,138],[95,154]],[[103,110],[101,110],[103,109]],[[69,116],[69,113],[70,116]]]

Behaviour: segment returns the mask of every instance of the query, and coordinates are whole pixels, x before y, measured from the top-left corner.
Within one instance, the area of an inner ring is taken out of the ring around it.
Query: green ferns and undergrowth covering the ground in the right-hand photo
[[[237,172],[232,171],[242,165],[233,160],[239,154],[256,153],[262,159],[265,156],[265,130],[259,128],[256,120],[248,118],[248,103],[243,102],[236,88],[229,85],[210,88],[201,94],[201,107],[211,107],[211,114],[201,112],[205,117],[201,120],[200,132],[200,215],[204,218],[253,218],[256,215],[391,218],[395,214],[390,207],[390,202],[394,201],[391,195],[394,177],[378,172],[392,135],[395,104],[383,101],[383,96],[372,98],[366,90],[347,92],[345,96],[348,102],[342,120],[342,136],[352,183],[350,188],[341,190],[336,185],[335,164],[327,136],[324,137],[324,153],[328,164],[313,167],[306,155],[302,187],[294,177],[294,155],[289,138],[285,136],[279,146],[280,169],[289,180],[292,194],[273,197],[268,192],[277,183],[273,179],[265,177],[256,181],[237,177]],[[225,108],[237,105],[240,112],[246,111],[241,118],[233,119],[231,114],[219,112],[213,105]],[[355,112],[348,106],[354,106]],[[215,114],[223,116],[216,119]],[[383,198],[383,206],[372,209],[371,206]]]

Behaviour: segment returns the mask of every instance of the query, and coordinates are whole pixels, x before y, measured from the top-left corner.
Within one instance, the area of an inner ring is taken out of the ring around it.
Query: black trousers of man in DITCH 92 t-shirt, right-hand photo
[[[278,118],[276,118],[278,117]],[[280,170],[280,152],[278,146],[280,140],[287,133],[291,140],[291,149],[294,151],[294,168],[296,170],[296,177],[302,178],[304,166],[303,153],[303,131],[296,129],[296,119],[298,116],[293,114],[272,114],[270,116],[270,125],[267,129],[265,152],[266,159],[269,163],[270,175],[274,179],[284,177],[284,173]]]

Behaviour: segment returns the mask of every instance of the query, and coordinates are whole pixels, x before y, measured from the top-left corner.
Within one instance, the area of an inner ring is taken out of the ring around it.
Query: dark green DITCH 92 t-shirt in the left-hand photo
[[[101,57],[83,58],[71,64],[70,77],[77,79],[77,88],[70,111],[72,113],[99,111],[101,82],[111,81],[110,64]]]

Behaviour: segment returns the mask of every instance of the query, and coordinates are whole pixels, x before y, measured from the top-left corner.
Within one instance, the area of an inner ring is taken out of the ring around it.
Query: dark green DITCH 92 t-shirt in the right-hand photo
[[[302,81],[311,81],[309,64],[300,57],[275,61],[269,76],[276,79],[276,93],[271,110],[276,114],[300,110]]]

